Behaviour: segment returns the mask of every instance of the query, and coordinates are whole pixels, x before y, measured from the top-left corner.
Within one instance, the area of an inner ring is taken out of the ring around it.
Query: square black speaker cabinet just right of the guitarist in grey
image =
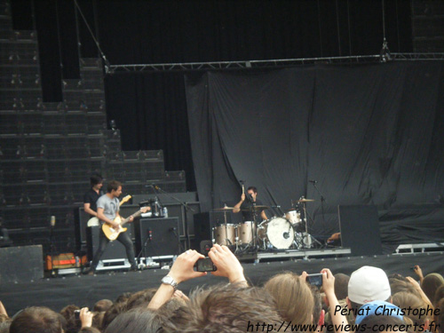
[[[136,220],[134,232],[141,257],[179,254],[178,218],[141,218]]]

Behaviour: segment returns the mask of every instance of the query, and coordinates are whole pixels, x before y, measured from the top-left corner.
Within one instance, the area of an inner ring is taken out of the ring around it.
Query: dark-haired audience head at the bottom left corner
[[[59,313],[43,306],[31,306],[13,319],[10,333],[62,333]]]

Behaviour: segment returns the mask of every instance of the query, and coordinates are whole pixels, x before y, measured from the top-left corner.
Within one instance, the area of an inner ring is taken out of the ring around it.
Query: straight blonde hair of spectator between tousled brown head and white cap
[[[274,275],[264,286],[276,302],[285,321],[293,324],[311,324],[314,308],[312,290],[294,273]]]

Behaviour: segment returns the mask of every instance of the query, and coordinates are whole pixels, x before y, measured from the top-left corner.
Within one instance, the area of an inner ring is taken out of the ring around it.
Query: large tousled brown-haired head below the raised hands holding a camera
[[[189,302],[163,321],[163,329],[165,332],[244,333],[249,323],[280,325],[281,316],[271,299],[264,289],[238,284],[196,289]]]

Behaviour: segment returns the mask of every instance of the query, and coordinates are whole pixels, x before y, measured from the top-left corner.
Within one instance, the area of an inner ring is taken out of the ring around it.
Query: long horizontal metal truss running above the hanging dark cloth
[[[113,74],[116,72],[182,72],[202,70],[239,70],[251,68],[297,67],[315,64],[347,65],[369,62],[388,62],[397,60],[444,60],[444,53],[388,53],[349,57],[107,65],[105,66],[105,69],[107,74]]]

